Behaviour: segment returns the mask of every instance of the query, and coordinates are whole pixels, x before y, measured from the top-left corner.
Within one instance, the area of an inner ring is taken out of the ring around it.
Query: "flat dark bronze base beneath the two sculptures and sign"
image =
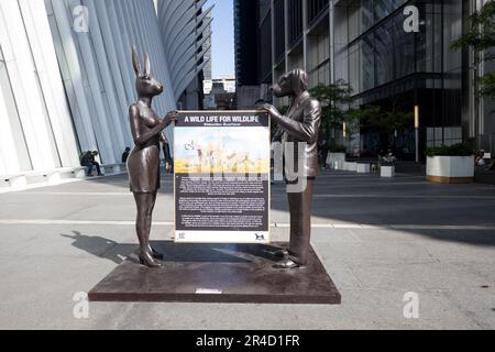
[[[131,255],[89,293],[90,301],[339,305],[341,296],[311,249],[304,268],[280,271],[274,254],[286,243],[174,244],[155,242],[163,268]]]

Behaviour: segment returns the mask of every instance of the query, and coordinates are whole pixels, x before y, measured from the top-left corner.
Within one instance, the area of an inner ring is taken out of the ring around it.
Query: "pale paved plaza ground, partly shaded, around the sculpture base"
[[[170,176],[153,240],[172,237]],[[288,239],[285,187],[272,190],[273,239]],[[341,306],[90,304],[88,292],[136,250],[127,176],[0,195],[2,329],[495,329],[495,187],[327,172],[312,244]],[[406,293],[419,317],[406,319]]]

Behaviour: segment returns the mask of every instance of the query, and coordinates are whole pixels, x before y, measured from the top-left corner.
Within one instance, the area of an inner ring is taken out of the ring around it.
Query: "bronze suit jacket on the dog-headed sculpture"
[[[294,100],[293,108],[287,117],[277,119],[278,132],[282,133],[282,142],[284,144],[285,173],[289,164],[287,157],[289,153],[294,153],[294,172],[299,176],[316,177],[320,174],[318,165],[318,136],[321,125],[321,105],[318,100],[311,98],[309,92],[304,92]],[[287,147],[286,142],[293,142],[294,148]],[[304,143],[304,151],[298,153],[297,143]],[[304,160],[299,162],[299,158]],[[298,165],[304,164],[302,174],[299,173]]]

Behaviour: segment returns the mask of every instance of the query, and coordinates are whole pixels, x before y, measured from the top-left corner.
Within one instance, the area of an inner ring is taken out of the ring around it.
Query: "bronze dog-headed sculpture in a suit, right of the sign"
[[[302,157],[294,165],[302,165],[304,169],[297,169],[299,178],[304,178],[306,187],[301,191],[288,191],[288,204],[290,212],[290,244],[287,250],[276,253],[284,260],[276,264],[276,268],[297,268],[306,266],[310,250],[311,238],[311,205],[315,178],[319,175],[318,165],[318,135],[321,125],[321,105],[311,98],[308,92],[308,76],[301,69],[280,77],[273,87],[276,97],[292,97],[292,108],[287,116],[282,116],[278,110],[271,105],[263,105],[260,108],[266,110],[272,119],[278,123],[277,135],[282,136],[283,144],[295,144],[293,151],[298,150],[298,144],[304,143],[302,153],[286,155],[284,157]],[[287,163],[286,163],[287,165]],[[287,169],[286,169],[287,176]],[[300,179],[299,179],[300,182]]]

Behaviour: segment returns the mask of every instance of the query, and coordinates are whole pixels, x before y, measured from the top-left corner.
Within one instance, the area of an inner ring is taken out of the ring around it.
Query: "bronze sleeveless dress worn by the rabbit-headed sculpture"
[[[140,133],[145,133],[160,123],[158,117],[140,108]],[[160,189],[160,134],[144,144],[135,145],[128,158],[131,191],[153,194]]]

